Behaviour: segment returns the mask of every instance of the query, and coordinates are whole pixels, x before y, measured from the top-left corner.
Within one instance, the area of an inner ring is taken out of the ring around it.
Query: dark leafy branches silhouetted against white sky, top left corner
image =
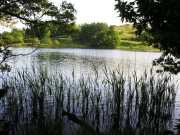
[[[0,19],[14,18],[24,20],[26,23],[36,23],[43,20],[58,20],[61,23],[74,21],[75,9],[71,3],[62,1],[60,8],[48,0],[1,0]],[[48,19],[47,19],[48,20]]]

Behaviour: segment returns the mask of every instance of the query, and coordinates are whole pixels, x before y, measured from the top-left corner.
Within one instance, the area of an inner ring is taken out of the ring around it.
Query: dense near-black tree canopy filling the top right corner
[[[137,34],[150,33],[165,54],[180,56],[180,0],[115,0],[122,21],[133,23]]]

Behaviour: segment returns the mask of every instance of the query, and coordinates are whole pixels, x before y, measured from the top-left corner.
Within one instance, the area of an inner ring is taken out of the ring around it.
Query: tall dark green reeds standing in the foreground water
[[[1,115],[13,135],[160,135],[171,127],[176,97],[171,76],[106,68],[104,76],[95,71],[94,77],[75,80],[74,73],[67,78],[46,69],[17,71],[3,81],[9,89]]]

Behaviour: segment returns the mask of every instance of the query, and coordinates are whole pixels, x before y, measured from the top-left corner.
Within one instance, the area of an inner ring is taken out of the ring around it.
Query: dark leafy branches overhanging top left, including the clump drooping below
[[[28,24],[36,37],[41,37],[44,28],[69,27],[74,24],[76,10],[71,3],[62,1],[59,7],[48,0],[1,0],[0,20],[21,20]],[[58,29],[59,30],[59,29]],[[57,31],[57,30],[56,30]]]

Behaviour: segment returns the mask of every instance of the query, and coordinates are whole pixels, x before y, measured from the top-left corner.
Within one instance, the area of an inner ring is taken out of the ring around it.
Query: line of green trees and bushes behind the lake
[[[79,44],[85,48],[117,48],[124,43],[124,40],[142,42],[151,39],[151,36],[145,32],[137,37],[131,25],[108,26],[105,23],[80,26],[42,23],[22,30],[12,29],[11,32],[3,32],[0,36],[1,44],[6,43],[12,47],[47,48],[68,47],[70,43]]]

